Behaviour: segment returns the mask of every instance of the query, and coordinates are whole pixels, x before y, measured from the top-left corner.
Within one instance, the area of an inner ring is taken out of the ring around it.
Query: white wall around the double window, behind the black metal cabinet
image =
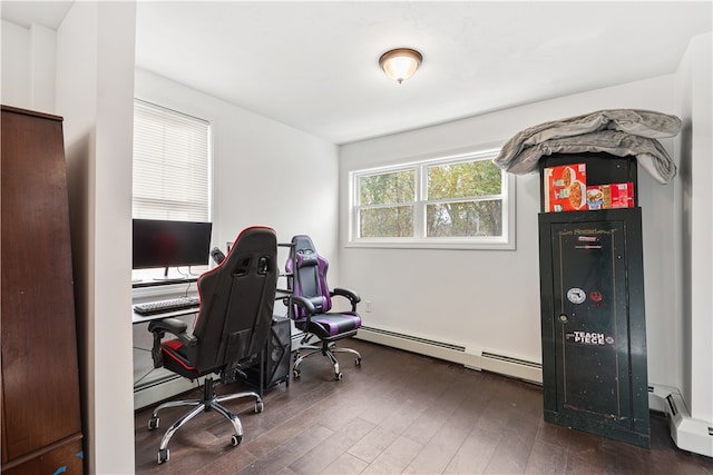
[[[348,209],[348,174],[398,158],[451,149],[502,144],[521,129],[547,120],[598,109],[639,108],[675,113],[673,77],[595,90],[517,107],[480,117],[382,137],[340,148],[341,209]],[[673,139],[662,140],[673,156]],[[638,174],[643,208],[646,325],[651,382],[680,386],[681,324],[671,269],[671,224],[676,180],[656,184]],[[340,280],[359,289],[372,311],[364,324],[413,336],[541,362],[537,174],[517,177],[517,249],[392,250],[343,247]],[[340,218],[340,238],[348,239],[348,216]]]

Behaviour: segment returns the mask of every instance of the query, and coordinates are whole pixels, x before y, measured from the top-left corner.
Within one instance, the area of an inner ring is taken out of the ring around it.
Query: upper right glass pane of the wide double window
[[[428,199],[500,195],[501,181],[500,169],[490,160],[431,166],[428,167]]]

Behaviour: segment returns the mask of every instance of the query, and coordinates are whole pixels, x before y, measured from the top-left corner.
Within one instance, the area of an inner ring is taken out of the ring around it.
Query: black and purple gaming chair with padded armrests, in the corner
[[[292,238],[285,268],[291,283],[290,317],[295,327],[304,331],[300,349],[310,350],[303,356],[299,355],[299,350],[295,353],[293,375],[300,377],[300,365],[305,358],[322,354],[334,365],[334,377],[341,379],[342,373],[334,353],[351,353],[356,356],[356,365],[361,365],[359,352],[335,346],[336,340],[356,335],[361,327],[361,317],[356,314],[356,304],[361,298],[345,288],[330,291],[326,284],[329,263],[316,253],[309,236]],[[351,311],[330,311],[332,297],[335,296],[349,299]],[[319,345],[309,345],[313,337],[320,339]]]

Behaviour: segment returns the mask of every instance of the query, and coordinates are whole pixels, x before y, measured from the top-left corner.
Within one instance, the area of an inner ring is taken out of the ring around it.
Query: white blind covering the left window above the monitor
[[[133,216],[211,220],[211,125],[134,102]]]

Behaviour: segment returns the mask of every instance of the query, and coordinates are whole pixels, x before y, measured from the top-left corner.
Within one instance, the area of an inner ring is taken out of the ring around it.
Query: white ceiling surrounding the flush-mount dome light
[[[2,18],[56,28],[67,4],[3,0]],[[711,1],[138,1],[136,65],[345,144],[671,73],[712,16]],[[397,47],[423,55],[402,85],[378,66]]]

